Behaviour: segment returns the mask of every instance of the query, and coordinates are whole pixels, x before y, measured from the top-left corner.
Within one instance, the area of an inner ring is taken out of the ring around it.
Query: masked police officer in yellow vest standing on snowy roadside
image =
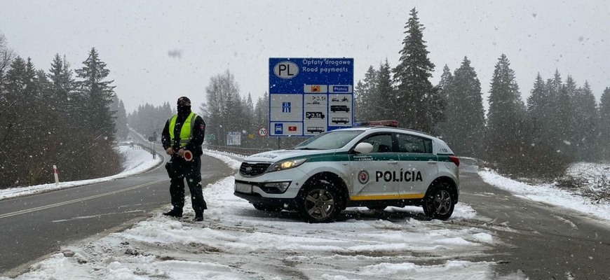
[[[170,176],[172,209],[163,215],[182,217],[184,179],[187,179],[195,211],[194,221],[203,221],[203,210],[208,209],[201,190],[201,144],[205,136],[205,122],[201,116],[191,112],[191,100],[188,97],[180,97],[177,105],[178,114],[165,123],[161,134],[165,153],[171,156],[165,168]]]

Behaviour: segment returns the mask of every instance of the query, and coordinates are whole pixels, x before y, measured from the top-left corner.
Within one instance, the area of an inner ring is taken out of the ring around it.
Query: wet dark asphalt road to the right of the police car
[[[610,279],[610,226],[590,215],[523,199],[484,183],[472,160],[462,160],[461,197],[477,211],[463,221],[491,230],[503,244],[481,260],[501,274],[529,279]]]

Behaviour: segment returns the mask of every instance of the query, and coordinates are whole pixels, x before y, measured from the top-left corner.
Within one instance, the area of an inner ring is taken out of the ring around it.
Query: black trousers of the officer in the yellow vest
[[[184,207],[184,180],[187,180],[191,192],[191,203],[195,214],[203,214],[208,209],[208,204],[203,199],[201,190],[201,158],[193,158],[190,162],[182,158],[174,158],[169,162],[168,172],[170,174],[170,195],[172,207],[182,210]]]

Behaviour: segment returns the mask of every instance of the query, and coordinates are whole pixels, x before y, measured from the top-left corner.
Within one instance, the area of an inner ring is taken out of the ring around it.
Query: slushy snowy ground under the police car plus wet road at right
[[[388,207],[347,209],[331,224],[257,211],[229,176],[204,188],[203,223],[191,222],[190,206],[180,220],[158,209],[123,232],[62,246],[17,279],[608,278],[607,221],[490,186],[468,163],[461,171],[449,221]]]

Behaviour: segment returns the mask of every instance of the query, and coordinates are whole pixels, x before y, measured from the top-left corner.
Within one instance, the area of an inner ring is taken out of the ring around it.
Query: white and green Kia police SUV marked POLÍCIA
[[[235,195],[258,210],[297,210],[305,221],[334,221],[346,207],[423,207],[448,219],[459,197],[459,158],[444,141],[398,127],[351,127],[294,148],[250,155]]]

